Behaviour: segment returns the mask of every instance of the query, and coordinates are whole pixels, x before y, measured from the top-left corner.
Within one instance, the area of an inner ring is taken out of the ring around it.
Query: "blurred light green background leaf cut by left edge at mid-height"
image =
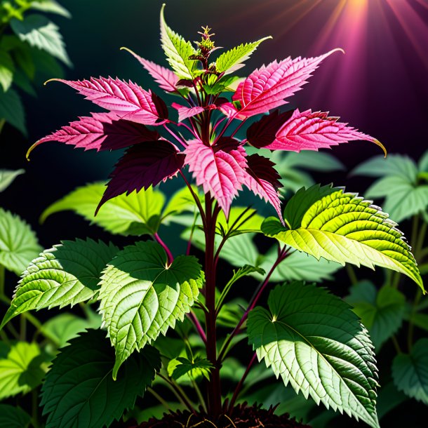
[[[18,215],[0,208],[0,265],[20,275],[40,251],[29,225]]]

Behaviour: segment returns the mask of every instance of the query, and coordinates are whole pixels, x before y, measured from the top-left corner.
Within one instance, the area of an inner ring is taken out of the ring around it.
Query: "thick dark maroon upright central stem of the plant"
[[[220,361],[217,358],[217,331],[215,326],[215,214],[209,194],[205,196],[205,300],[208,312],[206,313],[206,356],[213,364],[208,382],[208,415],[216,417],[222,411],[222,392],[220,388]]]

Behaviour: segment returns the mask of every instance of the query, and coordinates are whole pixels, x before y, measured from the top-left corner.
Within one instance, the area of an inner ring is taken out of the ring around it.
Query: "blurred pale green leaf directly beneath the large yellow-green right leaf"
[[[263,258],[260,267],[269,272],[276,261],[277,255],[278,250],[276,246],[273,246]],[[311,255],[300,253],[300,251],[293,251],[276,267],[269,281],[330,281],[333,279],[333,274],[341,268],[342,265],[339,263],[328,262],[325,259],[316,260]],[[260,276],[257,277],[260,279]]]

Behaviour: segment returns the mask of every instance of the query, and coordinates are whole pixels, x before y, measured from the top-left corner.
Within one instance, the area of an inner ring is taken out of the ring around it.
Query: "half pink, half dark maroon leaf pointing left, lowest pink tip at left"
[[[91,113],[92,116],[79,117],[78,121],[62,126],[59,131],[37,141],[29,152],[42,142],[58,141],[83,147],[85,150],[116,150],[139,142],[159,140],[156,131],[150,131],[140,123],[124,121],[114,113]],[[29,154],[28,152],[28,154]]]

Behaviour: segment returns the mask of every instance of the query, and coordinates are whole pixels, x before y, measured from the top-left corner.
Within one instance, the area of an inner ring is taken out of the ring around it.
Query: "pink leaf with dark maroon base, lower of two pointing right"
[[[338,122],[338,119],[329,117],[326,112],[300,112],[296,109],[290,119],[276,131],[275,138],[272,139],[272,135],[265,139],[259,136],[257,140],[249,142],[259,148],[293,152],[329,148],[352,140],[375,142],[383,148],[375,138],[347,126],[347,123]]]

